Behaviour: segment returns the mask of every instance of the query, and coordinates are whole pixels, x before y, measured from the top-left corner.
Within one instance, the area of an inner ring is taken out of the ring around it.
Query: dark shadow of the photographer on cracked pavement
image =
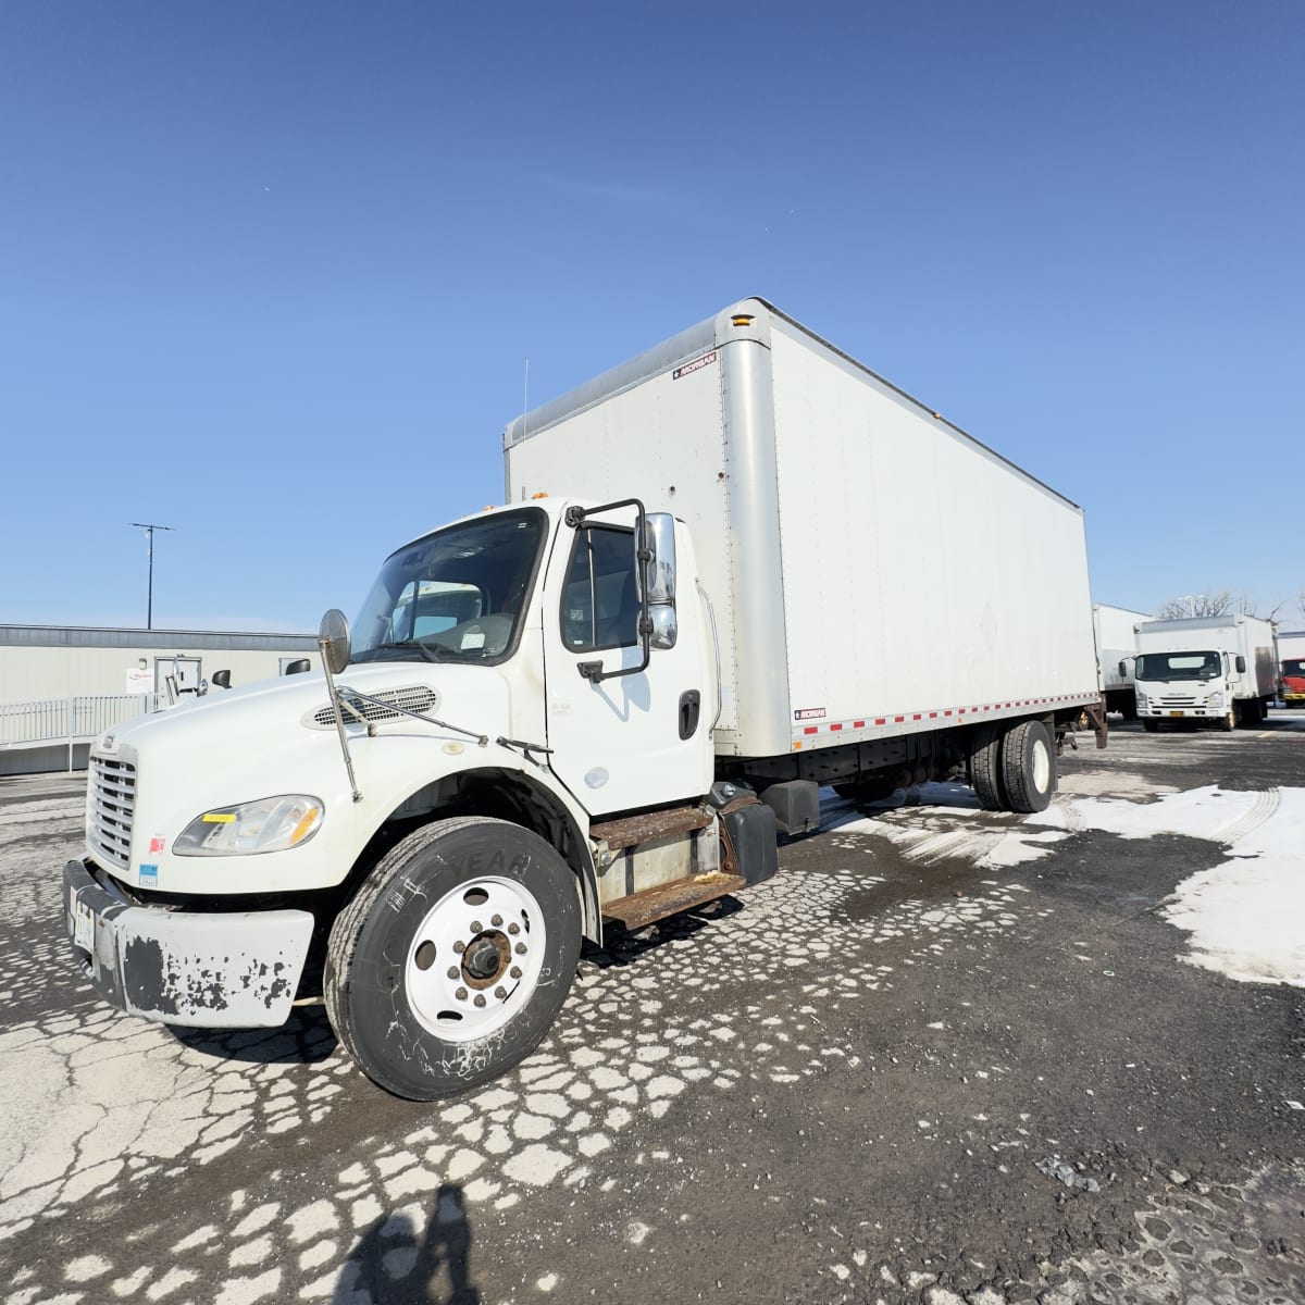
[[[425,1228],[398,1211],[361,1235],[341,1267],[331,1305],[480,1305],[471,1241],[462,1188],[441,1184]]]

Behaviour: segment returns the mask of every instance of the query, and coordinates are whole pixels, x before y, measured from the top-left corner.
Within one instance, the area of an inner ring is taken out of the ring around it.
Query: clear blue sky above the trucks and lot
[[[352,613],[501,499],[527,359],[756,294],[1081,502],[1096,600],[1300,628],[1302,56],[1298,0],[13,0],[0,622],[144,625],[133,521],[155,628]]]

